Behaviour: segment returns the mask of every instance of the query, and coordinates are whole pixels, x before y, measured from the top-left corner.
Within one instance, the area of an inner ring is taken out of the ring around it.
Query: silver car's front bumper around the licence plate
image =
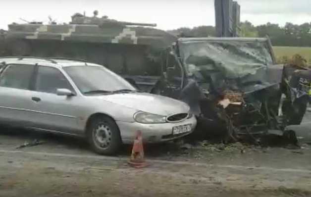
[[[181,138],[189,135],[197,126],[197,119],[192,116],[181,122],[176,123],[159,123],[159,124],[143,124],[138,122],[116,122],[121,139],[124,144],[133,144],[137,131],[141,131],[143,141],[145,143],[159,143]],[[191,131],[183,134],[173,135],[173,127],[191,124]]]

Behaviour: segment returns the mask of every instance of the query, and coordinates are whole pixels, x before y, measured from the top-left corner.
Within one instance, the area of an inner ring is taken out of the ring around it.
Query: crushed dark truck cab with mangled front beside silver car
[[[199,130],[224,141],[284,131],[306,112],[301,75],[276,64],[268,38],[180,38],[163,51],[162,69],[151,92],[188,103]]]

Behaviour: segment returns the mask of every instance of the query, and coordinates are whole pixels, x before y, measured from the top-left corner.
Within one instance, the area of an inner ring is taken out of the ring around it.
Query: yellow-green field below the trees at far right
[[[291,57],[294,54],[302,55],[311,64],[311,47],[273,47],[276,58]]]

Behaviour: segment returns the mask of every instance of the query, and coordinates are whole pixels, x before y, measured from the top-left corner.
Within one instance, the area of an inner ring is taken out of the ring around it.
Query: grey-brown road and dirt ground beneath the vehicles
[[[146,146],[149,167],[93,153],[81,139],[0,131],[0,197],[311,197],[311,113],[292,126],[302,149]],[[17,149],[38,139],[43,144]]]

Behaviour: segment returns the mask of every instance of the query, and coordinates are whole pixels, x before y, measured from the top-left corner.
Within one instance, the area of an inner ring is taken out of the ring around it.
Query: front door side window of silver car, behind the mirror
[[[35,91],[56,94],[56,90],[60,88],[74,92],[66,77],[58,69],[39,66]]]

